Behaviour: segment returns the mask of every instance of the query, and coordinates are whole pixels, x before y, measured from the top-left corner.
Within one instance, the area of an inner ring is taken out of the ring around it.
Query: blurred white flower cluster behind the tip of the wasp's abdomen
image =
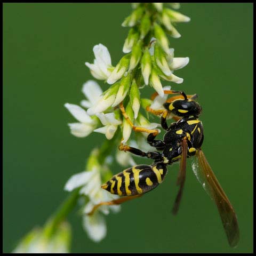
[[[92,215],[87,215],[94,205],[118,198],[117,195],[110,194],[101,188],[101,168],[103,167],[94,165],[89,171],[74,174],[65,185],[65,190],[68,191],[81,187],[79,193],[89,197],[89,202],[83,209],[83,227],[94,242],[101,241],[107,234],[107,226],[102,213],[109,214],[109,209],[118,212],[121,208],[120,205],[102,205]]]

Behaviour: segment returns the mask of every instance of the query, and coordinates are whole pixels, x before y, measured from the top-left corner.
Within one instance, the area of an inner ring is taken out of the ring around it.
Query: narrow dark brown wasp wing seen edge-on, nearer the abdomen
[[[181,159],[180,159],[180,171],[177,179],[177,185],[180,186],[180,189],[176,196],[176,199],[172,208],[173,214],[177,214],[179,210],[180,201],[181,201],[185,179],[186,179],[186,165],[187,165],[187,153],[188,153],[188,144],[187,144],[186,137],[183,138],[181,142],[181,148],[182,148],[182,153],[181,153]]]

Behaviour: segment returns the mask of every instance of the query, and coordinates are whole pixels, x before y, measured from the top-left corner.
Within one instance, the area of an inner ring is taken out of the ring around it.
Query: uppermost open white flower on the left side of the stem
[[[93,64],[85,62],[85,65],[90,68],[91,74],[100,80],[106,80],[113,70],[111,65],[110,53],[103,44],[94,45],[93,53],[95,56]]]

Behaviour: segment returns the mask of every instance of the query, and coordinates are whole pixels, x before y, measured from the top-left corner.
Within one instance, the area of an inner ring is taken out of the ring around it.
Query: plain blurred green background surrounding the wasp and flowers
[[[171,47],[190,62],[175,73],[183,84],[172,88],[199,95],[203,150],[236,210],[241,240],[230,249],[190,164],[179,214],[171,214],[179,168],[173,165],[161,186],[106,217],[101,243],[87,238],[73,211],[71,252],[253,251],[253,4],[189,3],[180,11],[191,22],[179,24],[182,36],[171,38]],[[75,119],[63,105],[83,99],[93,45],[106,45],[113,65],[122,57],[128,29],[121,23],[130,12],[126,3],[3,4],[4,252],[43,225],[68,195],[67,179],[84,170],[91,149],[106,139],[72,136],[67,123]],[[115,165],[113,172],[121,170]]]

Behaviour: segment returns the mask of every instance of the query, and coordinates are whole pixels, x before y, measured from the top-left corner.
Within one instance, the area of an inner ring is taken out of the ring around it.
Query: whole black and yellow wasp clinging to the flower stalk
[[[202,107],[195,101],[197,95],[186,95],[183,91],[172,90],[166,90],[164,93],[180,95],[169,98],[164,103],[164,109],[153,110],[147,107],[149,112],[161,115],[161,126],[166,131],[163,140],[156,140],[158,130],[148,130],[143,127],[134,126],[125,113],[123,103],[121,103],[120,109],[122,114],[133,130],[149,133],[147,142],[158,151],[146,153],[121,143],[119,146],[120,150],[153,159],[154,162],[151,165],[135,165],[114,175],[101,187],[111,194],[121,197],[110,202],[102,202],[95,205],[89,214],[92,214],[100,205],[121,204],[151,191],[164,180],[167,166],[179,161],[180,169],[177,179],[179,191],[172,209],[173,214],[177,214],[186,179],[187,158],[195,156],[197,162],[194,164],[193,169],[201,177],[199,181],[207,189],[208,194],[217,205],[229,245],[234,247],[239,241],[237,217],[233,206],[221,188],[201,149],[204,140],[204,130],[202,122],[198,119],[201,115]],[[153,99],[156,95],[153,95]],[[169,116],[172,116],[176,121],[171,123],[170,126],[167,125],[166,121]]]

